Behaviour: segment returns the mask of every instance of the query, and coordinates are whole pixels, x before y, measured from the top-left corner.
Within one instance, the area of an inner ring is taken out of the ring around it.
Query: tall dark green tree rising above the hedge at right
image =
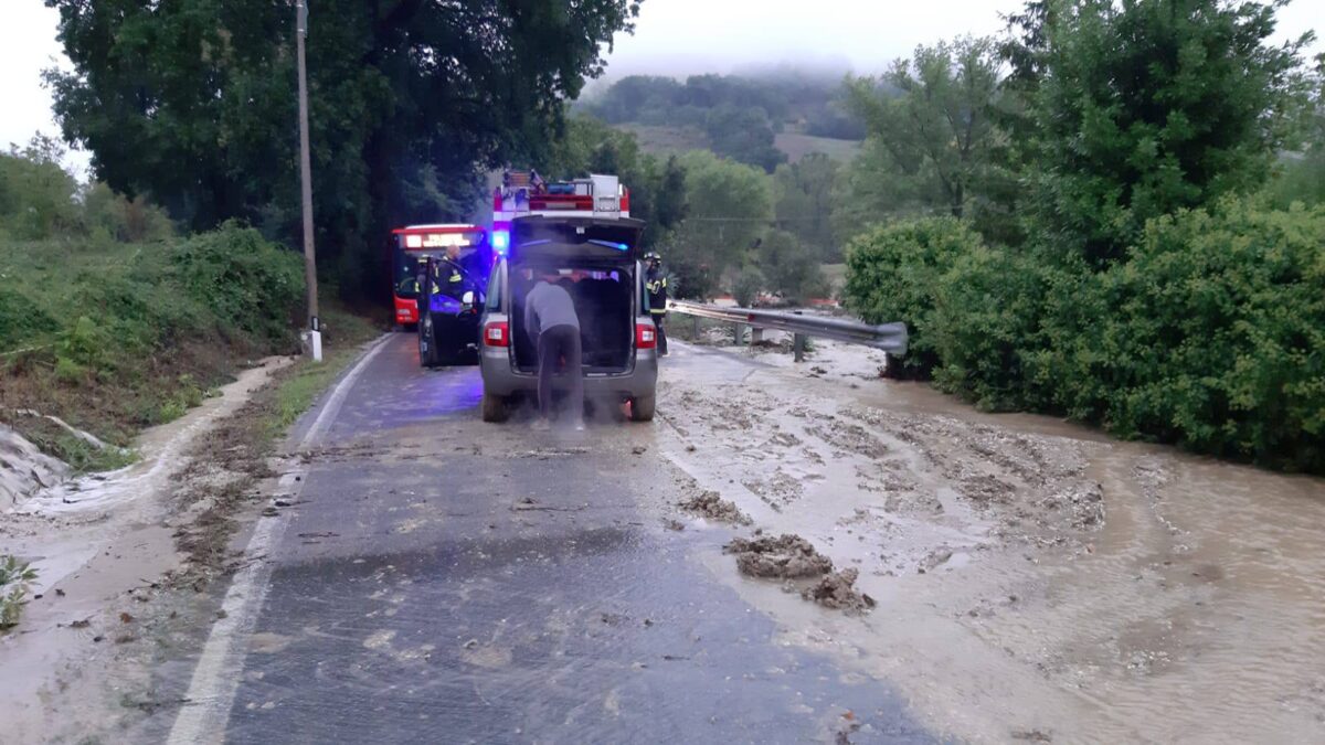
[[[1036,228],[1053,251],[1101,266],[1146,220],[1264,180],[1301,98],[1305,40],[1268,42],[1280,5],[1064,0],[1014,20]]]

